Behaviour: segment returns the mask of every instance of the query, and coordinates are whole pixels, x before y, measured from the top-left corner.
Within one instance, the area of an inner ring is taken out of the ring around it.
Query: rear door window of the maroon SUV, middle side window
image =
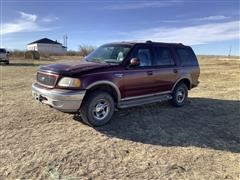
[[[154,47],[154,66],[174,65],[174,60],[170,49],[164,47]]]

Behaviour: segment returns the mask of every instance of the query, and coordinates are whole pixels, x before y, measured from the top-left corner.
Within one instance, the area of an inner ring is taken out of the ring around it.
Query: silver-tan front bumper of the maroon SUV
[[[32,84],[32,95],[36,101],[62,112],[77,112],[85,93],[85,90],[45,89],[37,83]]]

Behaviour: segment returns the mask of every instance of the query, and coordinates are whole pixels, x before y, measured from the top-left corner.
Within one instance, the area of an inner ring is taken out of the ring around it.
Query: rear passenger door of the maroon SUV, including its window
[[[153,45],[153,52],[157,91],[171,91],[179,78],[179,68],[174,60],[173,51],[169,46]]]

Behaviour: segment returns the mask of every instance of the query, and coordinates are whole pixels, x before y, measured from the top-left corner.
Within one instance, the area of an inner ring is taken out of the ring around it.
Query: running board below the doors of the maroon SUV
[[[128,108],[134,106],[140,106],[143,104],[150,104],[155,102],[162,102],[172,99],[171,94],[161,94],[161,95],[153,95],[149,97],[142,97],[130,100],[121,100],[118,104],[118,108]]]

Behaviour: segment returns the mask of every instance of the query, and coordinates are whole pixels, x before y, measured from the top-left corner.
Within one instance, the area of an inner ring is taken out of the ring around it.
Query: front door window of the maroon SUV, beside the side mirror
[[[140,66],[151,66],[151,49],[148,47],[140,47],[135,53],[134,57],[140,60]]]

